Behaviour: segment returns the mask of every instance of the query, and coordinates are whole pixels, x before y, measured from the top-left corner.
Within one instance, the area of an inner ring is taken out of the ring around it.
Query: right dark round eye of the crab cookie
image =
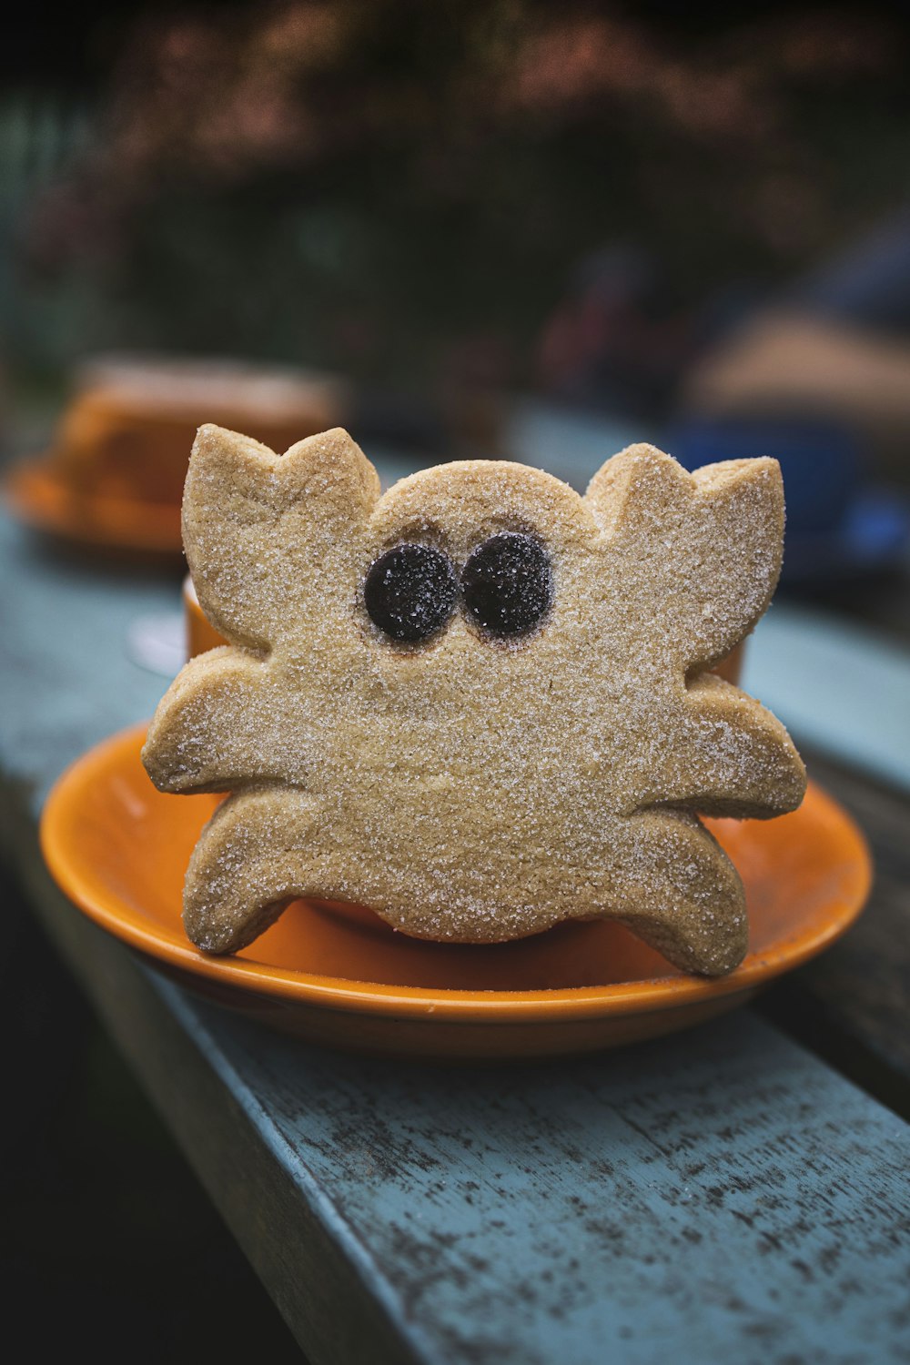
[[[473,551],[461,571],[464,603],[491,635],[531,631],[553,601],[550,556],[531,535],[502,531]]]

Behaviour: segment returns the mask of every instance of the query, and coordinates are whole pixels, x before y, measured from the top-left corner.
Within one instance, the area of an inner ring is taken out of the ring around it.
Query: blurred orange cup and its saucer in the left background
[[[317,371],[196,356],[85,362],[53,448],[4,480],[26,524],[71,545],[180,556],[196,429],[216,422],[285,450],[344,420],[348,385]]]

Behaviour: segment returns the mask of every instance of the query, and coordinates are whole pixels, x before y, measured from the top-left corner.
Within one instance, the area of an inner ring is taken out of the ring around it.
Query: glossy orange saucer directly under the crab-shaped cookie
[[[265,1022],[362,1051],[543,1057],[670,1033],[741,1005],[855,920],[870,860],[817,786],[794,815],[712,820],[746,886],[742,966],[684,976],[618,924],[562,924],[484,946],[427,943],[359,906],[297,901],[237,957],[205,957],[180,924],[190,852],[214,796],[162,796],[145,730],[113,736],[60,778],[41,822],[56,880],[90,919],[184,986]]]

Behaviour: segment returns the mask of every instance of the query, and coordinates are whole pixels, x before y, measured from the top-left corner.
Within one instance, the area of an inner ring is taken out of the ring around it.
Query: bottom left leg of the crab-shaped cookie
[[[195,846],[183,923],[205,953],[236,953],[311,885],[315,803],[300,792],[241,792],[218,807]]]

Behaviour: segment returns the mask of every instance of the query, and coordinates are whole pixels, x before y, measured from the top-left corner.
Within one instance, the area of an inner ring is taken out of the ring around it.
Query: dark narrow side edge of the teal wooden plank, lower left
[[[210,1065],[192,1037],[183,1002],[132,954],[79,915],[29,860],[20,864],[30,904],[64,961],[126,1054],[181,1145],[199,1182],[236,1237],[314,1365],[408,1365],[416,1360],[323,1226],[321,1201],[300,1198],[292,1167],[276,1158],[250,1122],[250,1097]],[[177,995],[179,992],[175,992]],[[173,1005],[177,1005],[177,1009]],[[214,1020],[218,1028],[218,1020]],[[267,1106],[262,1093],[258,1104]],[[173,1228],[175,1239],[180,1228]],[[243,1304],[199,1305],[213,1314]]]

